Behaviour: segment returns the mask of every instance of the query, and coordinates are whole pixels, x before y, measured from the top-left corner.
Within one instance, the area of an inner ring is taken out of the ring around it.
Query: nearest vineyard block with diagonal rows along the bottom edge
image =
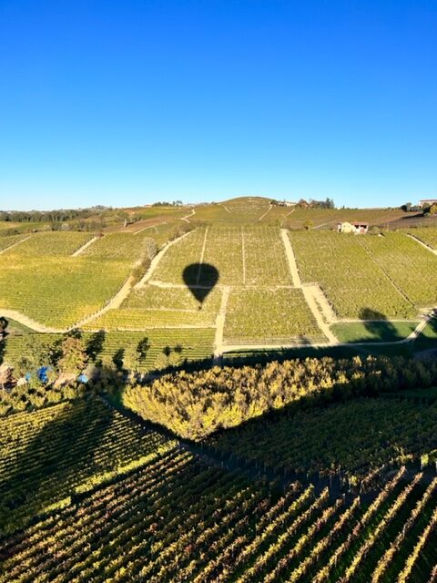
[[[297,484],[278,496],[172,451],[3,537],[0,581],[425,583],[435,487],[401,469],[370,505]]]

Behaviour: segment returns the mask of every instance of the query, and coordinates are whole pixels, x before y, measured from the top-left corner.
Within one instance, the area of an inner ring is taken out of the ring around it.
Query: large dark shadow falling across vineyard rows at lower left
[[[20,427],[19,419],[11,427],[13,445],[0,438],[0,534],[22,527],[47,506],[74,495],[74,487],[90,473],[105,470],[107,461],[95,453],[112,423],[112,410],[90,395],[40,409],[32,420],[51,415],[28,441],[30,427]],[[6,423],[13,424],[14,418],[6,417]],[[17,454],[19,445],[23,448]]]

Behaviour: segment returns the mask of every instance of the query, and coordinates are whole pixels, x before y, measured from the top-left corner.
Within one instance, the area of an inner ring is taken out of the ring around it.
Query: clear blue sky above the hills
[[[434,0],[0,0],[0,209],[437,197]]]

